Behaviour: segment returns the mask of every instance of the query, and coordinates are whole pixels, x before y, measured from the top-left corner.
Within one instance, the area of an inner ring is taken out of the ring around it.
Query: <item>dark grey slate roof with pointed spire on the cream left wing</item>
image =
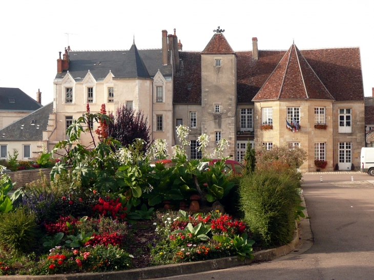
[[[172,76],[173,72],[170,62],[165,66],[162,64],[162,49],[137,50],[134,44],[130,50],[70,51],[69,59],[68,71],[75,79],[86,77],[88,70],[95,79],[107,77],[109,71],[115,77],[154,77],[158,70],[163,76]],[[57,73],[56,79],[64,78],[66,74],[67,70]]]

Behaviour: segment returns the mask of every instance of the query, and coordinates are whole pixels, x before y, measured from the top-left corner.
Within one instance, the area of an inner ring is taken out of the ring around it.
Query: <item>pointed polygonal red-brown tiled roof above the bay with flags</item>
[[[254,101],[269,99],[334,98],[293,44],[253,98]]]

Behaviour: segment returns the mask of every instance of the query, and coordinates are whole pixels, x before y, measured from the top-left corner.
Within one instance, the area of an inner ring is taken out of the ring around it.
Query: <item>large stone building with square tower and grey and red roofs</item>
[[[359,48],[299,50],[292,44],[262,51],[253,38],[252,51],[234,51],[222,32],[218,28],[202,52],[182,51],[175,30],[162,31],[161,49],[138,50],[135,42],[125,51],[68,48],[57,59],[50,139],[64,137],[87,103],[92,112],[102,103],[109,111],[123,103],[148,116],[152,138],[166,139],[170,154],[178,143],[175,127],[185,124],[189,158],[201,157],[196,140],[205,133],[208,149],[226,138],[226,156],[238,161],[256,141],[305,148],[302,171],[316,170],[315,159],[327,161],[326,170],[359,167],[365,144]]]

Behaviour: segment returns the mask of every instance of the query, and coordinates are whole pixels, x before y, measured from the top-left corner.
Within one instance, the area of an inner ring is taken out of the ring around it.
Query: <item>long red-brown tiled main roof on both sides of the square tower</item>
[[[252,51],[236,52],[238,103],[253,102],[252,99],[272,75],[286,52],[260,50],[258,60],[252,58]],[[337,101],[364,100],[359,48],[297,50],[297,52],[298,57],[301,58],[300,67],[304,70],[305,87],[313,98],[321,98],[319,94],[326,98],[328,96],[321,88],[320,80],[328,93]],[[201,102],[201,57],[198,57],[196,52],[186,51],[179,52],[179,56],[181,70],[174,76],[173,101],[199,103]],[[294,82],[293,79],[290,79],[290,82]],[[193,94],[187,90],[187,83],[193,84]]]

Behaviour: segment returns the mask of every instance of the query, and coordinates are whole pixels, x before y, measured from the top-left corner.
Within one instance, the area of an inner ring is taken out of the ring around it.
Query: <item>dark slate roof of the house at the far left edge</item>
[[[0,88],[0,112],[32,112],[41,106],[20,89]]]

